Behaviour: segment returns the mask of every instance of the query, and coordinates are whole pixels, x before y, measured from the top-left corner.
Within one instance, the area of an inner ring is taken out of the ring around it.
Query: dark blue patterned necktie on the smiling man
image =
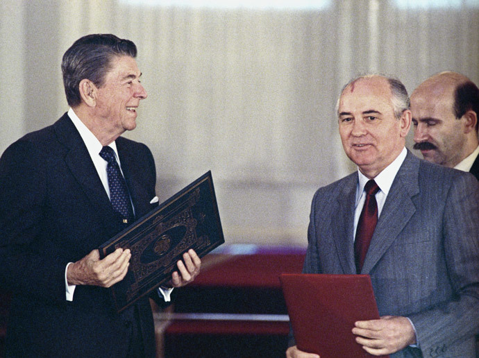
[[[133,221],[133,207],[131,206],[130,195],[126,187],[125,178],[121,175],[118,162],[115,158],[115,151],[109,146],[101,148],[100,157],[106,162],[106,173],[108,175],[108,187],[110,189],[110,201],[115,212],[119,212],[124,223]]]

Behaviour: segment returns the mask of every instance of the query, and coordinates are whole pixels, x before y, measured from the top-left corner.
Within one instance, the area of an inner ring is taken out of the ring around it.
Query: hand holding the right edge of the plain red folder
[[[416,343],[416,335],[405,317],[383,316],[378,320],[358,321],[353,328],[356,341],[371,355],[390,355]]]

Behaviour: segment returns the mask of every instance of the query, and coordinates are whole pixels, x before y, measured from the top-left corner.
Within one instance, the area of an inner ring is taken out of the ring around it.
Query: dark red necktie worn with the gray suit
[[[364,191],[366,191],[366,200],[362,207],[354,240],[354,257],[358,273],[361,272],[364,257],[366,257],[371,237],[373,237],[373,232],[378,222],[378,203],[376,203],[375,195],[379,191],[379,187],[374,180],[369,180],[364,186]]]

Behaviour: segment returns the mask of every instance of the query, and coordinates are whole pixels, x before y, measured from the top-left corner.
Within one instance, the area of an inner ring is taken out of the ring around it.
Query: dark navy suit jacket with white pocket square
[[[144,144],[119,137],[135,214],[153,209],[156,169]],[[158,204],[155,204],[158,205]],[[124,357],[130,325],[155,357],[148,298],[117,314],[109,289],[78,286],[65,299],[65,267],[123,229],[87,148],[64,114],[0,159],[0,282],[12,291],[7,357]]]

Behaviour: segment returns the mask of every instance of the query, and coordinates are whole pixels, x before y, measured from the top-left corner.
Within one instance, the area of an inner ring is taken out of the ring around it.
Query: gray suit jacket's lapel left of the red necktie
[[[342,269],[346,274],[356,273],[354,262],[353,230],[354,205],[356,187],[358,186],[358,172],[348,176],[337,196],[339,210],[331,222],[333,240],[339,255]]]

